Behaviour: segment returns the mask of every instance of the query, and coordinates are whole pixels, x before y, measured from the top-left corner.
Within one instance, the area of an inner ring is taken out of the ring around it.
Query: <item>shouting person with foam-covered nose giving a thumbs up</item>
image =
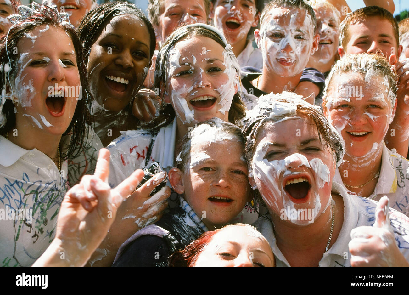
[[[250,183],[269,214],[255,223],[277,266],[408,266],[409,219],[335,181],[344,144],[319,108],[267,95],[243,127]]]

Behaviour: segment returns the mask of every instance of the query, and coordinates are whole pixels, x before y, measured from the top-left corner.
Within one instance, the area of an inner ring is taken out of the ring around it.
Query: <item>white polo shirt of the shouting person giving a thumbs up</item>
[[[337,241],[323,254],[319,266],[351,266],[351,253],[348,248],[348,243],[351,241],[351,230],[358,226],[375,223],[377,202],[368,198],[349,195],[344,187],[336,182],[333,182],[332,193],[341,195],[344,200],[344,224]],[[409,218],[394,209],[389,210],[389,218],[399,250],[409,261]],[[290,266],[277,247],[271,221],[260,217],[254,226],[270,243],[276,259],[276,266]]]

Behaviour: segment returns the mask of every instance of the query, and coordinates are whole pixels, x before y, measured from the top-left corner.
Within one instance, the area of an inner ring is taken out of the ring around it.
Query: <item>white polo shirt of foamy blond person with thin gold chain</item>
[[[389,207],[409,216],[409,161],[389,150],[385,144],[382,148],[382,163],[378,182],[370,199],[379,201],[383,196],[389,198]],[[348,191],[342,182],[339,170],[335,171],[334,182],[338,182]]]

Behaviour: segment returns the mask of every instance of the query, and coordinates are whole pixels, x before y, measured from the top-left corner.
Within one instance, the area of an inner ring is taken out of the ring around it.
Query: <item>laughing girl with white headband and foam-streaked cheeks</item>
[[[214,27],[195,24],[173,32],[158,54],[155,70],[155,87],[166,104],[152,128],[127,131],[108,146],[114,171],[110,185],[149,162],[171,169],[176,142],[199,122],[218,117],[239,123],[245,108],[236,93],[238,72],[230,45]]]

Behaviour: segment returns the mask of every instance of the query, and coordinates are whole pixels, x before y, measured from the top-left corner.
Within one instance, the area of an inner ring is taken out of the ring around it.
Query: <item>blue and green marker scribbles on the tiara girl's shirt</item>
[[[10,180],[5,177],[0,187],[0,201],[6,209],[31,209],[34,222],[16,220],[15,241],[21,234],[29,234],[32,243],[36,243],[40,236],[49,236],[51,239],[54,228],[45,229],[49,219],[53,220],[60,208],[61,202],[67,191],[66,180],[63,186],[58,187],[55,181],[32,181],[27,173],[22,174],[21,180]]]

